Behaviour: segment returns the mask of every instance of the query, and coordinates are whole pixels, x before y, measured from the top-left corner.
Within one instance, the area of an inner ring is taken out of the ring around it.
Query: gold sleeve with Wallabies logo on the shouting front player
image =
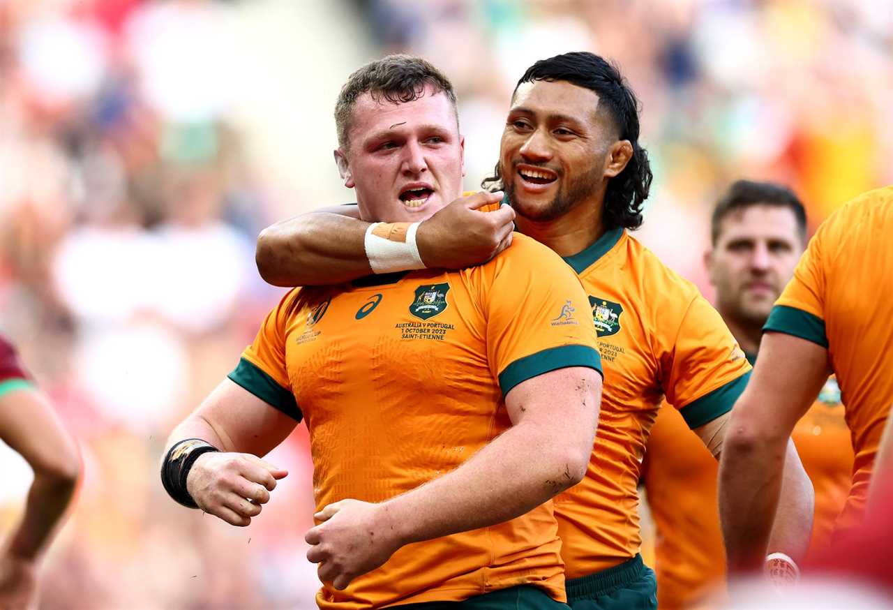
[[[522,381],[569,366],[602,372],[580,279],[558,255],[531,241],[519,239],[506,250],[484,288],[488,361],[504,396]]]

